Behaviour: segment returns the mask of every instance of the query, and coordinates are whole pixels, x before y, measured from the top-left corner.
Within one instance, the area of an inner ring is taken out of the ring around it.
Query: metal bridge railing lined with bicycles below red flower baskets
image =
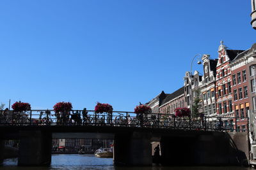
[[[180,118],[171,114],[136,114],[129,111],[113,111],[113,113],[95,113],[93,110],[72,110],[63,113],[55,113],[53,110],[0,111],[0,126],[81,125],[204,131],[247,131],[247,124],[248,119],[246,117],[228,117],[222,118],[220,121],[217,117]]]

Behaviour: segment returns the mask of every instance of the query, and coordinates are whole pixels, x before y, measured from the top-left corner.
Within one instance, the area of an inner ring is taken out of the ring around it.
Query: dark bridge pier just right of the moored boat
[[[151,133],[131,132],[115,135],[114,162],[124,166],[152,166]]]

